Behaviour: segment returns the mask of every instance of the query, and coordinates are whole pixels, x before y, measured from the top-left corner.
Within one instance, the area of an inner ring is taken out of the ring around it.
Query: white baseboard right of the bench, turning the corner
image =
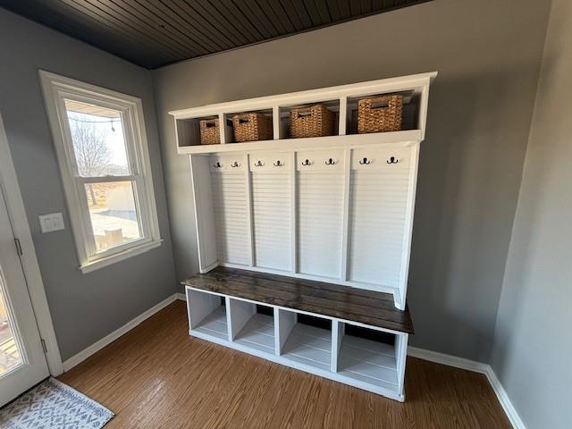
[[[445,355],[436,351],[417,349],[416,347],[410,346],[408,347],[408,356],[418,357],[419,359],[428,360],[429,362],[434,362],[436,364],[453,366],[455,368],[465,369],[474,373],[484,374],[491,384],[492,391],[494,391],[497,399],[501,402],[502,409],[504,409],[505,414],[509,417],[512,427],[515,429],[526,429],[524,422],[520,416],[518,416],[517,410],[512,405],[507,391],[504,390],[504,387],[502,387],[497,375],[494,374],[492,366],[482,362],[475,362],[474,360],[466,359],[464,357]]]

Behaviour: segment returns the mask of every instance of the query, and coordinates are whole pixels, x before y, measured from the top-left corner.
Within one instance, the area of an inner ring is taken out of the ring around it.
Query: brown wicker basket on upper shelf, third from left
[[[335,114],[325,105],[309,105],[290,110],[290,137],[324,137],[333,135]]]

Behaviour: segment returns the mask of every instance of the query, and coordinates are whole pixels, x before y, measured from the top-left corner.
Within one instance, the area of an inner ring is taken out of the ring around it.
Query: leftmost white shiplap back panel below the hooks
[[[244,172],[211,172],[219,262],[250,264],[248,189]]]

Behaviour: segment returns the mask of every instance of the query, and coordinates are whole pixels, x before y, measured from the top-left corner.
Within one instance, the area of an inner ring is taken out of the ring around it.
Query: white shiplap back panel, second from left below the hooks
[[[252,172],[255,265],[290,270],[290,172]]]

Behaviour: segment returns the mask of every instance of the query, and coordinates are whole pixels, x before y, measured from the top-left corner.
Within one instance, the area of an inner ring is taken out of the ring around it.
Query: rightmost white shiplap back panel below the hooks
[[[400,287],[408,163],[353,170],[349,182],[349,280]]]

